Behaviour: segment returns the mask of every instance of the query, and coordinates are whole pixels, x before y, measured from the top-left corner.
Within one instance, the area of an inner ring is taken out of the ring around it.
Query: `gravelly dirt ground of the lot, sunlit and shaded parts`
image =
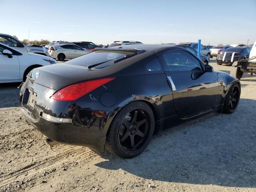
[[[173,128],[127,160],[83,147],[50,148],[22,118],[18,84],[2,84],[0,191],[256,192],[256,76],[241,84],[234,114]]]

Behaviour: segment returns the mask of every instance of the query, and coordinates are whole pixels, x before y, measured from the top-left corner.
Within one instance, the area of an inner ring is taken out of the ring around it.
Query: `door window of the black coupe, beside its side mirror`
[[[202,70],[200,61],[185,51],[173,50],[163,54],[169,71]]]

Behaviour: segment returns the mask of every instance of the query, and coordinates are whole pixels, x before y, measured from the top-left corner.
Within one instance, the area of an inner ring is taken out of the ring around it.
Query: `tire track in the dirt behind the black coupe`
[[[58,148],[61,148],[61,150],[58,150]],[[75,149],[77,147],[75,146],[56,146],[54,148],[54,151],[52,151],[52,154],[56,154],[50,158],[46,158],[43,161],[40,161],[38,163],[32,163],[30,165],[25,166],[24,168],[21,168],[19,170],[16,170],[11,174],[0,180],[0,188],[14,183],[16,181],[22,181],[25,178],[35,176],[37,174],[42,173],[44,170],[49,170],[51,168],[54,168],[58,166],[59,164],[62,164],[67,161],[72,161],[76,157],[82,157],[82,160],[90,159],[94,156],[97,156],[97,154],[90,150],[89,148],[81,147],[78,149]]]

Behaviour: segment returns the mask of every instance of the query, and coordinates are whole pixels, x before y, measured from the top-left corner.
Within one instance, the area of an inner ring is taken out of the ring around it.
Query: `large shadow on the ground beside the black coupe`
[[[172,128],[139,156],[124,160],[106,155],[109,160],[96,166],[166,182],[256,187],[256,120],[247,116],[255,108],[255,100],[240,99],[233,114]]]

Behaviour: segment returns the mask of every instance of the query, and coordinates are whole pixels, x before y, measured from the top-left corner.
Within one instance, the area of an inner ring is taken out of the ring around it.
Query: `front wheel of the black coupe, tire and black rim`
[[[223,106],[224,113],[230,114],[236,110],[239,99],[240,99],[240,93],[241,93],[241,90],[238,83],[234,83],[230,86],[224,101],[224,106]]]

